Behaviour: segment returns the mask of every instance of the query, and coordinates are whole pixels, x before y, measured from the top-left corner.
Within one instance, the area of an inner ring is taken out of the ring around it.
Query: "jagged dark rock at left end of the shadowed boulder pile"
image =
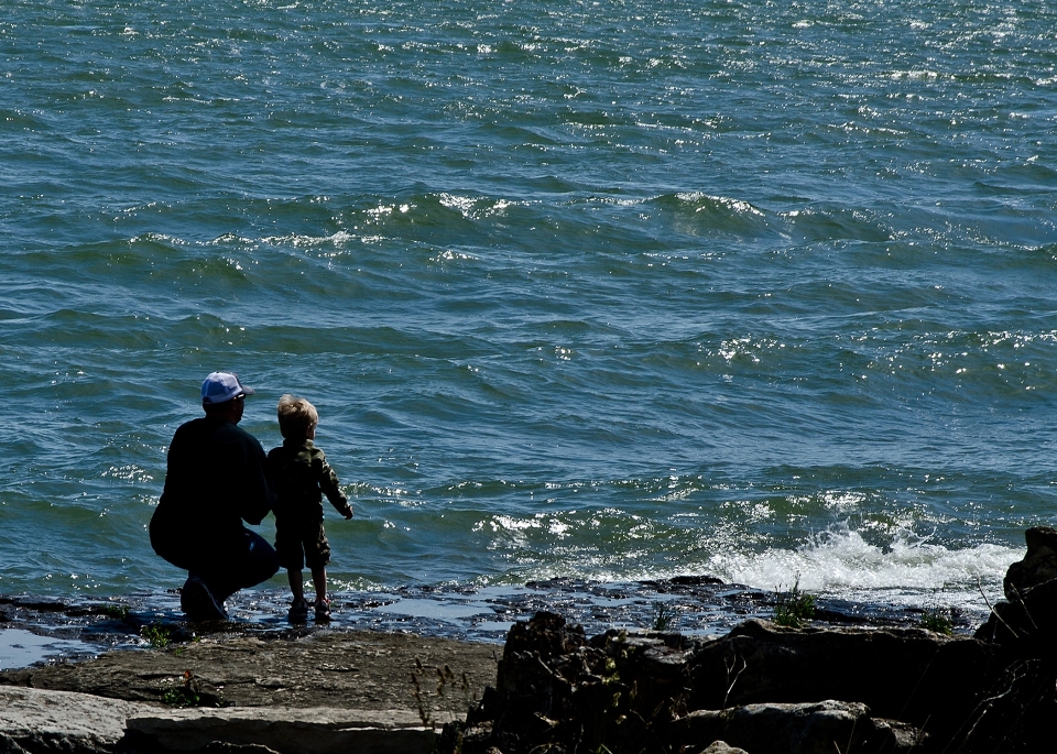
[[[685,711],[695,646],[661,632],[610,631],[588,641],[560,615],[537,613],[511,629],[495,687],[465,726],[446,730],[442,751],[650,751],[656,731]]]

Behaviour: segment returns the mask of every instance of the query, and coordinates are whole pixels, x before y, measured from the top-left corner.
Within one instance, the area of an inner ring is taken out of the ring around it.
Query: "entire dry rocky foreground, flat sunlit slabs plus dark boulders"
[[[0,754],[1048,751],[1057,531],[1026,538],[1006,601],[973,635],[750,616],[721,636],[589,636],[540,610],[503,647],[347,630],[183,636],[0,673]]]

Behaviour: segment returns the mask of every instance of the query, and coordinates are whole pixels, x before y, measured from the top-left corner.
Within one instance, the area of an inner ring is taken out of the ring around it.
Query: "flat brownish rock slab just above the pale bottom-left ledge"
[[[364,631],[271,641],[221,635],[6,670],[0,685],[163,703],[189,680],[205,704],[421,710],[438,718],[465,714],[480,699],[494,681],[499,653],[488,644]]]

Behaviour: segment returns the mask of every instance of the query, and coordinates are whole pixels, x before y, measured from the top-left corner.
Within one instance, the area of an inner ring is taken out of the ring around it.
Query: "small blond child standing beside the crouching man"
[[[275,550],[279,565],[286,569],[294,601],[291,621],[308,618],[305,586],[301,569],[307,564],[316,588],[316,620],[330,619],[327,600],[327,564],[330,545],[323,531],[323,494],[346,518],[352,507],[338,488],[338,477],[327,463],[323,450],[313,445],[319,414],[304,398],[283,395],[279,400],[279,428],[283,444],[268,454],[268,465],[275,480],[279,501],[275,503]]]

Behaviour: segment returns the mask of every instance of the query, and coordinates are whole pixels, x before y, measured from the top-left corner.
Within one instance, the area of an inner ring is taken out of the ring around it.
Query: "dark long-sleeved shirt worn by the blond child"
[[[268,465],[279,494],[276,521],[323,521],[324,494],[342,516],[351,513],[348,499],[338,488],[338,476],[312,440],[283,440],[269,451]]]

